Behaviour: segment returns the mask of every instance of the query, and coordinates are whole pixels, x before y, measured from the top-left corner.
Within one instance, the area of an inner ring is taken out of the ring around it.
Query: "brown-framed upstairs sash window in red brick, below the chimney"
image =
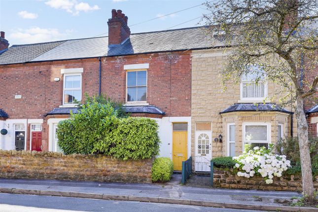
[[[147,71],[127,71],[127,102],[147,101]]]

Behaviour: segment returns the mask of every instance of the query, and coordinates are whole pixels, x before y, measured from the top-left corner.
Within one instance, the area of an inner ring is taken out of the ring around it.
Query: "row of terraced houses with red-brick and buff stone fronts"
[[[12,45],[0,38],[0,149],[60,151],[59,121],[77,112],[84,94],[105,94],[133,116],[159,124],[160,156],[176,170],[190,156],[237,155],[243,143],[268,145],[296,135],[293,112],[259,107],[275,84],[242,79],[225,93],[219,71],[226,56],[204,27],[131,34],[112,10],[108,36]],[[309,110],[317,134],[317,106]],[[316,127],[316,128],[315,128]]]

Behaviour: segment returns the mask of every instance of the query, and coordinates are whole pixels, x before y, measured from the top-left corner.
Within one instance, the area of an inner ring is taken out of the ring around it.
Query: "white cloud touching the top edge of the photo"
[[[86,2],[78,2],[77,0],[49,0],[45,4],[55,9],[66,10],[73,15],[78,15],[81,11],[88,12],[100,9],[98,5],[91,6]]]

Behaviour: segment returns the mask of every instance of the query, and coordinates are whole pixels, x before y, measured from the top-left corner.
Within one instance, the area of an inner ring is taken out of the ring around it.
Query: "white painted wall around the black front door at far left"
[[[8,133],[6,135],[1,135],[0,148],[3,150],[13,150],[14,149],[14,132],[15,132],[15,124],[24,124],[25,126],[25,142],[24,149],[27,148],[27,119],[7,119],[0,123],[1,129],[6,129]]]

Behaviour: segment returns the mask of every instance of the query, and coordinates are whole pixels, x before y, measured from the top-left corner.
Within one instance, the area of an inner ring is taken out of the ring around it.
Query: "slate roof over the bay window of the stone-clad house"
[[[239,103],[239,104],[229,106],[228,108],[220,112],[220,114],[227,113],[227,112],[237,112],[237,111],[278,111],[278,112],[285,112],[285,113],[293,113],[272,103],[258,104],[258,105],[254,105],[252,103]]]

